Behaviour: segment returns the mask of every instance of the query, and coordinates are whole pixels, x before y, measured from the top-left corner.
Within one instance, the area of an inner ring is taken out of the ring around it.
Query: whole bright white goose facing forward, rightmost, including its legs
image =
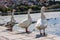
[[[41,8],[41,18],[37,20],[36,27],[40,31],[40,35],[45,35],[45,28],[47,27],[46,17],[44,15],[45,6]],[[41,32],[43,30],[43,33]]]

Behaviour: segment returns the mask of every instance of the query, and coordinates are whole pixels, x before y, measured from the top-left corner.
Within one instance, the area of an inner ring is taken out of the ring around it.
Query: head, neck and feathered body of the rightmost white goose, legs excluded
[[[47,21],[45,19],[45,15],[44,15],[44,11],[45,11],[45,7],[41,8],[41,18],[37,20],[36,23],[36,27],[40,27],[40,28],[46,28],[47,26]]]

